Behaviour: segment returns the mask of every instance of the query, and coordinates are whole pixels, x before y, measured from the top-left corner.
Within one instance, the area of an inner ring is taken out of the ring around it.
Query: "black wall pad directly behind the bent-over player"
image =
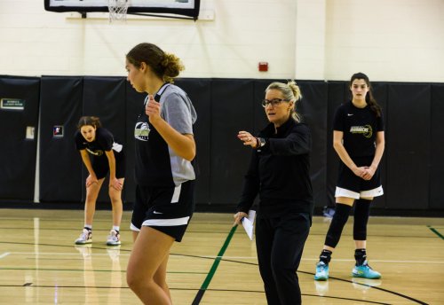
[[[102,126],[113,134],[115,142],[123,145],[126,150],[126,113],[125,83],[122,77],[84,77],[83,78],[83,113],[82,115],[98,116]],[[80,116],[79,116],[80,118]],[[78,120],[78,119],[77,119]],[[83,181],[88,170],[82,167]],[[98,202],[110,202],[108,195],[109,175],[102,184]],[[123,188],[123,201],[125,188]],[[82,187],[82,199],[86,197],[86,189]]]

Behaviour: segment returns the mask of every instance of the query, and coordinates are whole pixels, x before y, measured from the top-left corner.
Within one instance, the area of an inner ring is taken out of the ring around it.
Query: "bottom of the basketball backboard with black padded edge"
[[[166,13],[197,20],[200,0],[128,0],[129,14]],[[108,12],[108,0],[44,0],[50,12]]]

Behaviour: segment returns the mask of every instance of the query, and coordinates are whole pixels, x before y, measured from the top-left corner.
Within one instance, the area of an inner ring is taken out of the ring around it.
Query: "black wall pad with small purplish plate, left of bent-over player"
[[[82,160],[74,133],[82,114],[83,77],[42,76],[40,112],[40,201],[81,202]],[[53,137],[56,125],[64,137]]]

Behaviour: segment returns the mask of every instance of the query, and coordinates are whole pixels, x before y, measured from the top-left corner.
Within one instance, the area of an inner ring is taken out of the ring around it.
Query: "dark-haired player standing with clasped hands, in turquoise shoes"
[[[337,108],[333,125],[333,146],[341,159],[335,192],[337,207],[316,264],[315,280],[329,278],[331,254],[339,243],[353,205],[356,263],[352,276],[381,278],[367,262],[366,246],[370,203],[384,193],[378,167],[385,147],[384,122],[366,74],[353,74],[349,88],[353,98]]]

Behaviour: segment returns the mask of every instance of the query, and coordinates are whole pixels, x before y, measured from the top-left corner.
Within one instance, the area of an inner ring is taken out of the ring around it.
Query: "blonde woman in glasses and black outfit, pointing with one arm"
[[[313,192],[309,176],[312,137],[301,123],[296,82],[273,82],[262,102],[270,123],[254,137],[238,136],[251,146],[250,168],[234,224],[242,223],[259,195],[256,247],[268,304],[301,303],[297,268],[312,223]]]

